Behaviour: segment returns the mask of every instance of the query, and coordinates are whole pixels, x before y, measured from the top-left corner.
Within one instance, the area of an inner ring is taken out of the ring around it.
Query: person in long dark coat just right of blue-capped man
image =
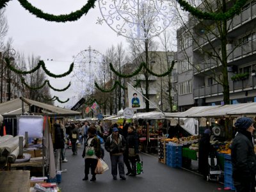
[[[125,154],[127,154],[129,161],[131,161],[131,165],[127,165],[128,173],[126,175],[129,176],[136,176],[136,161],[140,160],[139,157],[139,137],[136,131],[134,131],[134,127],[132,125],[129,125],[127,130],[127,138],[126,138],[126,150]]]

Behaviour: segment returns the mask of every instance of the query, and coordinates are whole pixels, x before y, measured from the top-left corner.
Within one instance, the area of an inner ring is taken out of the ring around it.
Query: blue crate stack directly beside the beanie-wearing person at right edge
[[[224,154],[224,187],[236,190],[234,187],[234,181],[232,179],[232,162],[231,156]]]

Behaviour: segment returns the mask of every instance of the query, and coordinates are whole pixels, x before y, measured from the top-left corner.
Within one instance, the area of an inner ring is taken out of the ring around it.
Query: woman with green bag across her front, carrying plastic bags
[[[101,156],[100,141],[97,138],[95,125],[91,125],[88,129],[88,138],[86,140],[82,156],[85,164],[83,180],[88,180],[89,169],[91,168],[91,181],[95,181],[95,168],[97,166],[98,158]]]

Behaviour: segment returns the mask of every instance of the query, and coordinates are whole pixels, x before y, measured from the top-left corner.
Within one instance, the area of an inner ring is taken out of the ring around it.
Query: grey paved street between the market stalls
[[[217,182],[206,182],[202,176],[188,172],[184,169],[171,168],[166,164],[158,163],[157,157],[143,154],[142,175],[137,177],[127,176],[127,180],[113,180],[110,168],[109,154],[106,152],[105,161],[109,170],[102,175],[97,175],[96,182],[83,181],[84,159],[82,158],[83,148],[78,148],[78,155],[72,156],[72,150],[67,149],[66,157],[68,163],[61,163],[62,192],[79,191],[227,191],[223,184]],[[126,172],[126,170],[125,170]],[[90,179],[91,175],[89,175]],[[218,189],[218,188],[221,188]]]

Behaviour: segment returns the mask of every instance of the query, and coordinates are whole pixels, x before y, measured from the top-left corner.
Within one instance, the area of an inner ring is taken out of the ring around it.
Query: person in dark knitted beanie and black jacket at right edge
[[[241,117],[234,124],[237,134],[231,145],[231,161],[236,191],[255,191],[256,157],[252,118]]]

